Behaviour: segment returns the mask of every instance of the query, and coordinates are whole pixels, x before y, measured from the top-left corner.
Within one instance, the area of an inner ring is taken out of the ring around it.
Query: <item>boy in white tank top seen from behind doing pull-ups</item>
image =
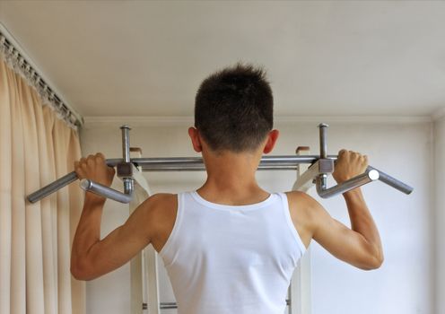
[[[205,184],[149,197],[103,240],[105,199],[86,193],[73,243],[74,277],[109,273],[152,243],[179,314],[282,314],[292,272],[312,239],[353,266],[379,267],[379,231],[360,188],[344,194],[349,229],[304,193],[270,194],[257,185],[261,156],[278,137],[272,124],[272,91],[261,69],[236,65],[205,79],[196,94],[196,127],[188,129],[205,161]],[[366,156],[342,150],[333,176],[341,183],[366,167]],[[75,170],[106,186],[114,176],[100,153],[76,162]]]

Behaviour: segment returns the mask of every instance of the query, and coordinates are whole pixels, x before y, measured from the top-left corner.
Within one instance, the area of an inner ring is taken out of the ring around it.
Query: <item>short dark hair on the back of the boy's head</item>
[[[254,151],[272,130],[274,98],[262,67],[237,64],[208,76],[195,99],[195,126],[215,152]]]

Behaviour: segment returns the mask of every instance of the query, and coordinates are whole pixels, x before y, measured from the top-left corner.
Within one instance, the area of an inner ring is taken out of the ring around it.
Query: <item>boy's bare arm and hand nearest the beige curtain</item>
[[[79,179],[92,179],[109,187],[114,170],[105,164],[101,153],[90,155],[75,163]],[[105,198],[85,193],[83,212],[75,231],[71,273],[79,280],[92,280],[123,266],[149,245],[158,234],[159,217],[165,208],[176,202],[176,196],[157,194],[137,206],[127,222],[100,239],[100,220]]]

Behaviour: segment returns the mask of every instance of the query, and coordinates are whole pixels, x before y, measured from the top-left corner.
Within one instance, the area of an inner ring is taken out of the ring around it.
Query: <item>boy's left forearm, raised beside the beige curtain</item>
[[[100,220],[105,198],[86,193],[83,212],[77,225],[71,252],[72,273],[88,265],[88,253],[100,241]]]

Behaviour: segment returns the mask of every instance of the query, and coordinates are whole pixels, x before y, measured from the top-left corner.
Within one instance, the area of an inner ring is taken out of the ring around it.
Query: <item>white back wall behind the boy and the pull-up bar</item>
[[[123,120],[122,124],[126,122]],[[329,123],[328,120],[323,122]],[[278,126],[281,138],[274,154],[293,154],[299,145],[310,145],[312,152],[318,153],[316,126],[315,122]],[[187,128],[187,125],[136,126],[131,131],[131,143],[142,147],[144,157],[194,156],[196,153],[190,147]],[[380,269],[371,272],[355,269],[329,256],[316,243],[311,244],[313,313],[430,314],[434,230],[429,162],[432,159],[431,124],[336,122],[330,124],[328,136],[329,153],[336,153],[343,147],[366,153],[373,166],[405,180],[415,190],[411,196],[406,196],[380,182],[364,188],[385,249],[386,259]],[[120,130],[115,125],[86,126],[81,140],[84,155],[98,151],[109,157],[121,155]],[[442,150],[441,156],[443,154]],[[150,172],[145,173],[145,177],[153,192],[175,193],[198,188],[205,174]],[[260,184],[270,191],[288,190],[294,177],[292,171],[264,171],[257,175]],[[120,188],[117,183],[118,180],[115,188]],[[314,191],[311,194],[314,195]],[[348,224],[341,197],[320,202],[336,219]],[[109,201],[103,215],[102,234],[116,228],[126,218],[127,207]],[[161,301],[174,301],[163,269]],[[128,311],[128,266],[87,284],[87,309],[88,313]],[[162,312],[176,313],[174,310]]]

